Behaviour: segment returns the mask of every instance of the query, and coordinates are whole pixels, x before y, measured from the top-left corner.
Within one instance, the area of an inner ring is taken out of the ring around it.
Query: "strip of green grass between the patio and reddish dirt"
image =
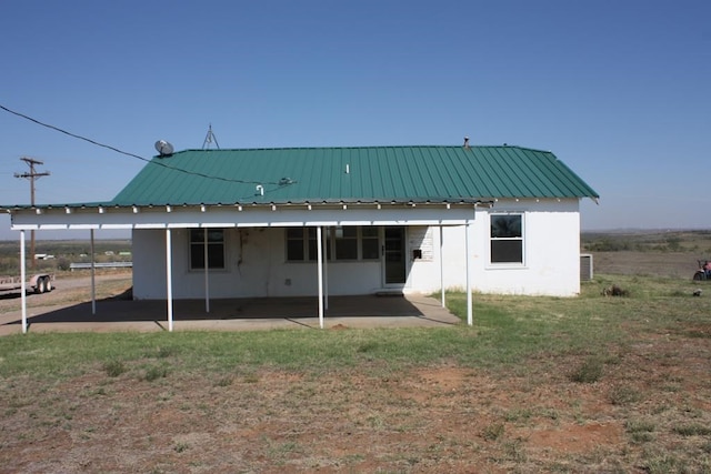
[[[689,282],[615,278],[632,296],[602,297],[600,290],[610,282],[598,278],[571,299],[475,294],[472,327],[14,334],[0,337],[0,376],[72,376],[107,361],[116,365],[108,371],[154,360],[171,370],[229,373],[236,367],[319,372],[357,365],[398,371],[448,361],[498,367],[531,356],[570,356],[587,371],[581,382],[594,382],[608,362],[598,355],[630,343],[630,325],[673,332],[680,322],[707,324],[703,297],[674,295]],[[465,320],[464,294],[448,294],[448,305]]]

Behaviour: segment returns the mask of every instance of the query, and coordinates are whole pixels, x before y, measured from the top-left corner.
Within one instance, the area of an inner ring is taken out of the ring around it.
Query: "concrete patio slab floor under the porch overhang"
[[[167,301],[122,297],[29,309],[28,332],[156,332],[169,331]],[[254,297],[213,300],[210,313],[202,300],[173,302],[178,331],[264,331],[320,329],[313,297]],[[420,294],[399,296],[332,296],[326,329],[445,327],[459,317],[441,303]],[[23,331],[21,311],[0,314],[0,335]]]

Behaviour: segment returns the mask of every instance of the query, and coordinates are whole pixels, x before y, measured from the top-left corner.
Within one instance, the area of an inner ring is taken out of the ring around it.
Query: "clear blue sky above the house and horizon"
[[[584,230],[711,228],[711,2],[6,1],[0,104],[150,158],[518,144],[601,195]],[[0,203],[113,198],[143,162],[0,110]],[[14,239],[0,218],[0,239]],[[61,236],[61,235],[60,235]],[[42,238],[39,234],[38,238]]]

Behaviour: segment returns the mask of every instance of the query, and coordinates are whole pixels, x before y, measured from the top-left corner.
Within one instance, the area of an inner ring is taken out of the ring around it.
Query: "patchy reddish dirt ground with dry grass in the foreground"
[[[703,430],[674,434],[680,418],[711,422],[711,325],[684,331],[695,335],[651,334],[608,354],[618,363],[590,384],[567,375],[580,361],[545,354],[505,373],[444,364],[148,381],[137,362],[39,390],[14,377],[0,390],[0,473],[681,472],[668,453],[711,452]],[[645,437],[662,452],[647,452]]]

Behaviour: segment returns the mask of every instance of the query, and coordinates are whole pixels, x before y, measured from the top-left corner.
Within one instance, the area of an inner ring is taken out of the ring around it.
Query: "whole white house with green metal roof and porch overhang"
[[[465,143],[186,150],[112,201],[4,209],[22,248],[27,230],[132,230],[133,297],[170,315],[173,299],[572,296],[583,198],[598,194],[550,152]]]

